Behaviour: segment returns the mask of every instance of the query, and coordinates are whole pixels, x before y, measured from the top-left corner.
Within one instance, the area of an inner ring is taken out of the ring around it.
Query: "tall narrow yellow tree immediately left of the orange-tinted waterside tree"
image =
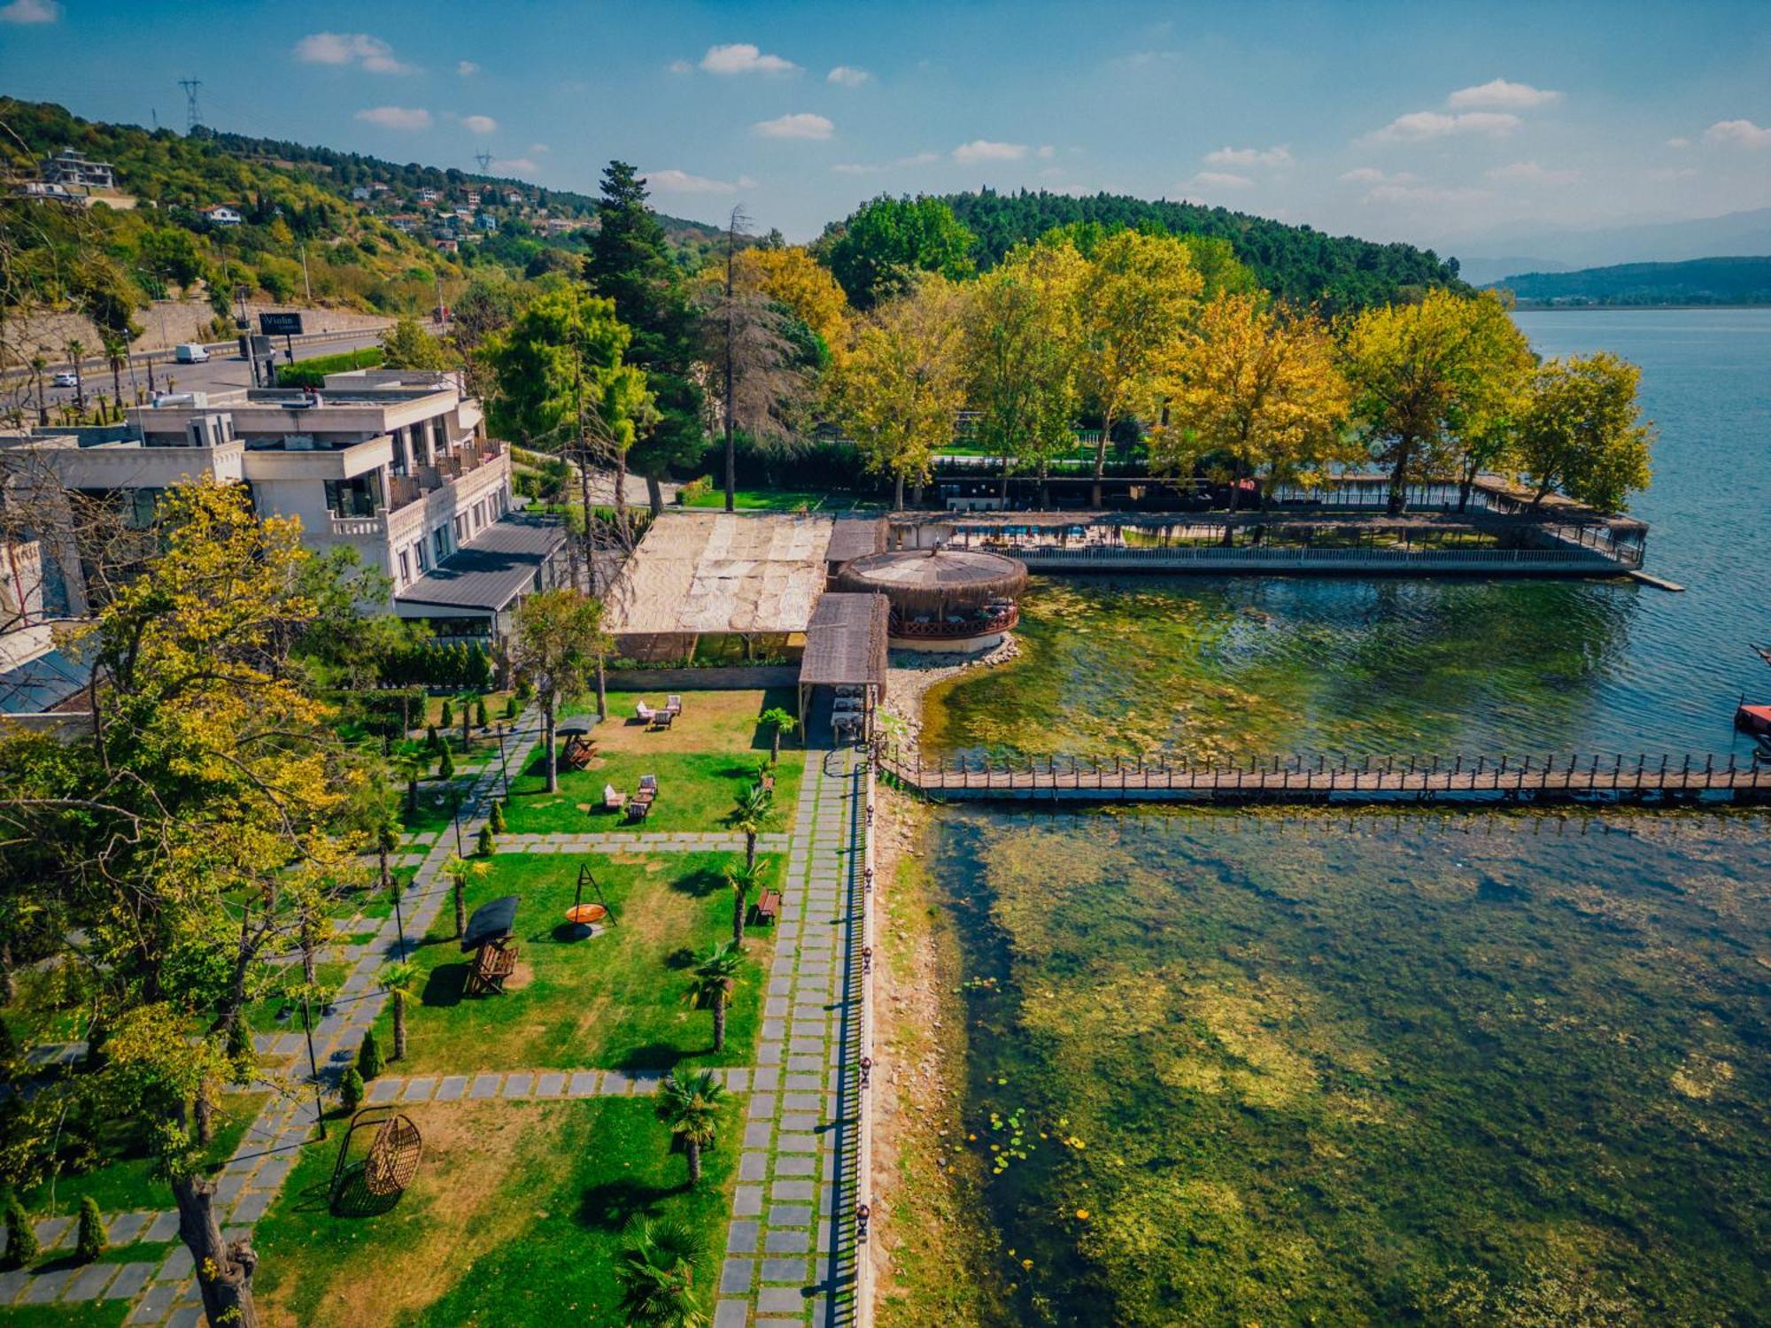
[[[1192,251],[1176,235],[1119,230],[1094,246],[1075,285],[1077,388],[1102,414],[1094,444],[1093,506],[1102,505],[1102,473],[1114,421],[1146,393],[1164,352],[1188,326],[1204,285]]]

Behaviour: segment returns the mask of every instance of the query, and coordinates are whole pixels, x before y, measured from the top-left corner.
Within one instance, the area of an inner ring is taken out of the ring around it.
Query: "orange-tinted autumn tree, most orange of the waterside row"
[[[1149,436],[1156,469],[1179,473],[1222,459],[1236,510],[1243,478],[1273,487],[1348,460],[1348,386],[1328,329],[1264,297],[1226,294],[1199,313],[1164,379]],[[1226,529],[1226,537],[1229,531]]]

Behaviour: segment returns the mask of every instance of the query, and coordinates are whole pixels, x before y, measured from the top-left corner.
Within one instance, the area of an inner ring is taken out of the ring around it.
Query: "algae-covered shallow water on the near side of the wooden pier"
[[[1762,1321],[1767,829],[951,811],[1018,1321]]]

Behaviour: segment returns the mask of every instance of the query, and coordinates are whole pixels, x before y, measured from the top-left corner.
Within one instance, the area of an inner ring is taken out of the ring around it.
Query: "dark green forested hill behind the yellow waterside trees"
[[[1413,244],[1376,244],[1351,235],[1326,235],[1311,227],[1199,204],[1146,202],[1119,193],[1073,198],[1063,193],[955,193],[944,200],[976,237],[979,267],[1001,262],[1015,244],[1052,227],[1098,223],[1176,235],[1229,241],[1263,287],[1293,301],[1319,303],[1337,313],[1380,305],[1427,287],[1463,289],[1458,260]]]

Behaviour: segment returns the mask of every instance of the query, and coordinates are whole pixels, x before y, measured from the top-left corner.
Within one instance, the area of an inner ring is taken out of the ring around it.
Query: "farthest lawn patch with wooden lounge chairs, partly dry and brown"
[[[756,783],[769,758],[769,731],[758,715],[772,706],[793,708],[788,689],[770,692],[682,692],[684,710],[668,730],[652,731],[634,717],[638,701],[662,705],[664,692],[609,692],[609,717],[592,740],[597,758],[588,770],[561,770],[560,791],[547,793],[547,754],[537,751],[510,781],[505,823],[517,834],[590,830],[721,830],[739,793]],[[776,768],[776,829],[788,829],[799,799],[804,753],[783,745]],[[652,815],[634,823],[602,809],[602,788],[623,793],[639,776],[657,776]]]

